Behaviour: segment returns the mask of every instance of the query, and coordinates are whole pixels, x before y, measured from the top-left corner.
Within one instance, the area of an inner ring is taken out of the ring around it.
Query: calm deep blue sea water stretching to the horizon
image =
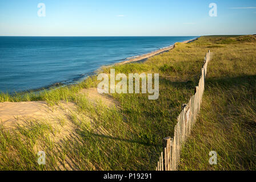
[[[0,36],[0,92],[72,84],[102,65],[194,38]]]

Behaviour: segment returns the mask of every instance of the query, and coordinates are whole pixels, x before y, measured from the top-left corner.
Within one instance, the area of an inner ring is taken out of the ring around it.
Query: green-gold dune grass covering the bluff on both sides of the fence
[[[148,100],[148,94],[111,94],[118,107],[110,109],[101,102],[96,106],[92,105],[86,96],[77,93],[82,88],[97,86],[97,76],[92,76],[77,85],[39,93],[16,93],[14,96],[1,93],[1,102],[43,100],[50,106],[58,104],[61,100],[74,102],[77,110],[74,110],[67,119],[76,127],[77,138],[64,138],[61,147],[59,144],[57,147],[57,144],[47,137],[53,132],[50,123],[47,124],[48,127],[27,127],[27,132],[33,132],[33,135],[18,129],[9,131],[2,127],[0,141],[5,146],[0,148],[0,159],[5,160],[1,160],[0,169],[51,170],[58,169],[59,163],[64,169],[155,169],[162,151],[162,139],[173,134],[181,105],[193,94],[205,53],[209,49],[214,56],[207,72],[203,107],[193,135],[182,150],[181,169],[198,169],[199,166],[200,169],[212,169],[213,166],[209,167],[207,163],[208,154],[209,150],[217,145],[218,148],[214,150],[218,152],[219,160],[222,162],[219,162],[221,167],[215,166],[214,169],[253,169],[255,120],[249,118],[253,117],[251,114],[255,111],[255,89],[251,89],[251,86],[255,86],[253,83],[256,75],[255,44],[253,36],[206,36],[187,44],[177,43],[171,51],[150,57],[143,63],[113,65],[99,71],[110,73],[110,68],[115,68],[116,74],[159,73],[158,100]],[[236,81],[237,77],[239,81]],[[246,82],[251,85],[246,85]],[[241,94],[240,90],[243,90]],[[246,102],[249,103],[248,108],[244,107]],[[227,107],[228,103],[233,104],[232,107]],[[222,114],[219,114],[219,110]],[[227,125],[225,119],[230,125]],[[63,125],[65,122],[63,121]],[[237,125],[239,127],[235,127]],[[41,127],[45,135],[39,132]],[[245,127],[246,130],[243,130]],[[230,132],[233,130],[236,133]],[[7,135],[8,132],[17,134]],[[219,134],[217,141],[220,143],[210,140],[212,138],[205,138],[203,134],[210,137]],[[27,138],[27,141],[50,142],[39,144],[42,150],[47,151],[46,157],[49,161],[46,161],[45,166],[37,164],[37,153],[33,147],[38,143],[28,144],[21,138]],[[233,145],[234,143],[237,145]],[[56,148],[58,152],[55,152]],[[9,160],[9,156],[5,155],[11,155],[12,152],[15,155]],[[247,153],[250,156],[244,157]],[[237,159],[235,155],[240,157]],[[239,166],[239,162],[242,162],[242,167]]]

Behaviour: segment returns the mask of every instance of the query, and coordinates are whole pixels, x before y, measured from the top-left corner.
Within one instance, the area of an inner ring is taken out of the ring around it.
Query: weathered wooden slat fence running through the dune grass
[[[202,75],[198,86],[195,87],[195,94],[190,98],[189,103],[184,105],[177,118],[177,125],[174,127],[174,137],[164,138],[165,148],[161,152],[157,163],[157,171],[175,171],[178,170],[179,157],[182,144],[190,135],[191,129],[197,119],[201,108],[203,91],[205,90],[205,77],[207,65],[210,61],[210,51],[206,53],[205,61],[202,67]]]

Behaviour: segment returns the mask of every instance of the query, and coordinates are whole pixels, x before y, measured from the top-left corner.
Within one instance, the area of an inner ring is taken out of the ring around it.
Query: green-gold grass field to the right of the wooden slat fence
[[[181,169],[255,170],[255,38],[204,39],[221,47],[212,49],[201,114],[182,150]],[[217,152],[217,165],[209,164],[210,151]]]

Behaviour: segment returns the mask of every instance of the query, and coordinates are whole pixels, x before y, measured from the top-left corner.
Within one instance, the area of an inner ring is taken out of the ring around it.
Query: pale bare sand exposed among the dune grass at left
[[[107,95],[99,94],[97,88],[82,89],[78,94],[85,96],[88,101],[97,105],[114,107],[117,102]],[[0,122],[6,129],[15,129],[17,125],[27,126],[28,122],[49,123],[57,131],[53,136],[56,143],[62,139],[77,138],[77,127],[70,120],[70,115],[77,111],[74,102],[59,101],[58,105],[49,106],[45,101],[2,102],[0,103]],[[88,122],[90,117],[86,117]]]

